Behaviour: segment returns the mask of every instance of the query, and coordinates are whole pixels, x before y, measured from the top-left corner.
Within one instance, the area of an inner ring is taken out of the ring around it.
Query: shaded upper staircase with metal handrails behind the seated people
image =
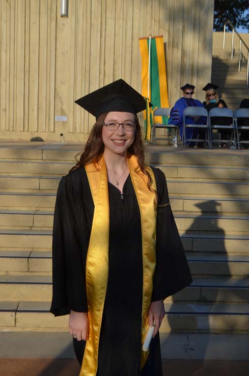
[[[241,38],[249,46],[249,34],[241,33]],[[232,33],[226,33],[223,49],[223,33],[213,33],[211,82],[219,86],[218,93],[229,108],[236,110],[242,99],[249,97],[246,86],[247,50],[242,45],[241,71],[238,72],[239,38],[234,37],[234,58],[231,60]]]

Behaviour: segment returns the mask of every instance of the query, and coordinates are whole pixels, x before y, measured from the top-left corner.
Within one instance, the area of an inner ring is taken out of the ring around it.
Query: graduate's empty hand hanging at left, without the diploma
[[[86,312],[71,310],[69,315],[69,332],[78,341],[86,341],[89,337],[89,320]]]

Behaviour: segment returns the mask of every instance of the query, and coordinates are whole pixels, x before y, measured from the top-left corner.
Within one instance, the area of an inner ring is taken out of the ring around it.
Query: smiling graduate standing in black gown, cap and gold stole
[[[76,103],[96,122],[58,189],[50,311],[70,314],[81,376],[161,376],[163,300],[192,279],[164,174],[145,164],[146,102],[119,79]]]

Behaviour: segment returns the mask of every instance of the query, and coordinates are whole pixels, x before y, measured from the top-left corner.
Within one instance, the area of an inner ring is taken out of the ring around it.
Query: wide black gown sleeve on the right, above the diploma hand
[[[188,286],[192,278],[171,206],[167,205],[169,195],[164,174],[159,169],[153,171],[157,185],[158,207],[156,268],[151,300],[157,301]]]

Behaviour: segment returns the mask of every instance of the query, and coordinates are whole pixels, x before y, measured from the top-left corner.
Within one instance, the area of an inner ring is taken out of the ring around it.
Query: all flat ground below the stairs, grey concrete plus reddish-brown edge
[[[248,376],[247,335],[162,334],[164,376]],[[1,333],[1,376],[78,376],[68,333]],[[205,359],[205,360],[202,360]]]

